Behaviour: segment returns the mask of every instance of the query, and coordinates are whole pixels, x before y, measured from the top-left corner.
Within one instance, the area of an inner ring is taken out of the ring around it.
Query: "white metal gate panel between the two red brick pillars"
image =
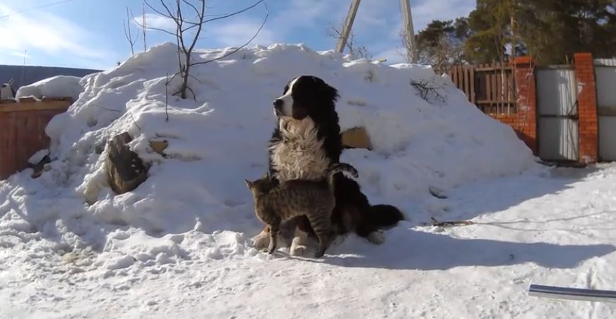
[[[579,155],[577,81],[571,66],[538,68],[539,157],[576,161]]]

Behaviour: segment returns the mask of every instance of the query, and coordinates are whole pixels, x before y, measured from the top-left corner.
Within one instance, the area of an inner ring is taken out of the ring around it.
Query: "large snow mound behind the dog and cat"
[[[230,49],[203,50],[208,61]],[[23,95],[61,92],[78,100],[47,126],[51,169],[39,179],[25,171],[0,182],[0,231],[32,249],[75,255],[82,267],[108,271],[206,259],[256,256],[249,237],[254,217],[244,178],[267,169],[266,143],[276,123],[271,101],[300,74],[323,78],[340,92],[343,129],[365,126],[374,151],[347,150],[342,160],[360,171],[372,203],[391,203],[412,220],[442,213],[429,188],[533,166],[530,150],[511,128],[467,102],[463,92],[430,68],[350,61],[303,45],[273,44],[191,68],[194,100],[171,96],[179,78],[177,47],[162,44],[109,71],[57,77],[20,89]],[[437,85],[422,100],[412,82]],[[166,121],[166,114],[169,120]],[[128,131],[131,148],[151,162],[135,191],[107,186],[105,144]],[[150,140],[167,140],[162,157]],[[31,241],[30,239],[47,239]],[[129,257],[127,257],[129,256]]]

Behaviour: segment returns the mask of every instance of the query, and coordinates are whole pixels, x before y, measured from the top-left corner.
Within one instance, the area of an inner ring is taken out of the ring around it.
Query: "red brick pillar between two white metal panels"
[[[579,161],[593,163],[598,156],[597,90],[593,55],[576,53],[574,60],[578,85]]]

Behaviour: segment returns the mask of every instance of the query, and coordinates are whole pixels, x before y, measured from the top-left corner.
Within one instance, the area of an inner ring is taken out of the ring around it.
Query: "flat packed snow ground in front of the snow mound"
[[[212,236],[168,235],[160,241],[177,243],[167,246],[182,258],[104,267],[3,234],[0,318],[616,318],[614,304],[526,292],[531,283],[616,289],[615,185],[616,165],[466,183],[387,231],[383,246],[349,236],[324,260],[268,258],[231,239],[221,250],[250,253],[225,257],[198,249]],[[422,226],[436,206],[439,219],[475,224]]]

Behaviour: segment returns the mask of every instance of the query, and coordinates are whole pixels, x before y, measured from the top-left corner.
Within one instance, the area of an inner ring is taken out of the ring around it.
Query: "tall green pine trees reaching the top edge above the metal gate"
[[[468,21],[465,55],[474,63],[507,61],[513,43],[538,64],[616,54],[615,0],[478,0]]]

